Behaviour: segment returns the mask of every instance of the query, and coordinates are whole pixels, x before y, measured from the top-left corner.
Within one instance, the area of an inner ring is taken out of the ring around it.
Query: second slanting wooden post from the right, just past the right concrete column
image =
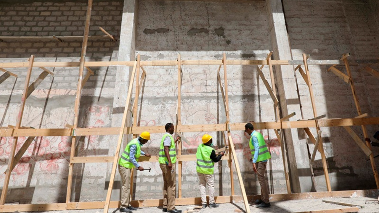
[[[308,63],[307,63],[307,56],[305,55],[305,53],[303,53],[303,61],[304,61],[305,72],[307,74],[307,79],[308,79],[308,84],[309,84],[308,88],[309,88],[310,100],[312,102],[313,116],[317,117],[315,97],[313,95],[312,81],[310,80],[310,74],[309,74]],[[316,130],[317,130],[317,132],[320,131],[320,128],[318,127],[318,125],[316,127]],[[328,165],[326,163],[326,157],[325,157],[325,153],[324,153],[324,146],[323,146],[323,140],[322,140],[322,138],[320,138],[318,146],[319,146],[319,150],[320,150],[320,154],[321,154],[321,161],[323,162],[323,169],[324,169],[324,175],[325,175],[326,188],[327,188],[328,191],[332,191],[332,188],[330,186]]]

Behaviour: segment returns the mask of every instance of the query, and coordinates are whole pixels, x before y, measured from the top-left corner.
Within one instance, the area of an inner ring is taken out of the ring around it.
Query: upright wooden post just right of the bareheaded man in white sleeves
[[[181,93],[182,92],[182,60],[180,54],[178,55],[178,108],[177,108],[177,125],[182,125],[182,114],[180,113],[181,109]],[[176,129],[176,128],[175,128]],[[182,155],[183,143],[182,139],[178,142],[178,155]],[[182,197],[182,172],[183,172],[183,161],[178,162],[178,197]]]

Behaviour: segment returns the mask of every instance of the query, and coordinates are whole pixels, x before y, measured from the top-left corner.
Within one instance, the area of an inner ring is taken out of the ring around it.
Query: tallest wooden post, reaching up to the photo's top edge
[[[75,97],[75,105],[74,105],[74,111],[75,111],[74,128],[78,127],[79,105],[80,105],[80,97],[81,97],[81,88],[82,88],[82,83],[83,83],[84,62],[86,60],[89,23],[91,21],[91,12],[92,12],[92,0],[88,0],[86,24],[85,24],[83,43],[81,46],[81,54],[80,54],[79,79],[78,79],[78,86],[76,89],[76,97]],[[76,136],[73,136],[72,143],[71,143],[71,151],[70,151],[71,153],[70,153],[69,174],[68,174],[68,180],[67,180],[66,203],[69,203],[71,200],[72,171],[74,167],[74,163],[71,163],[71,161],[75,156],[76,140],[77,140]]]

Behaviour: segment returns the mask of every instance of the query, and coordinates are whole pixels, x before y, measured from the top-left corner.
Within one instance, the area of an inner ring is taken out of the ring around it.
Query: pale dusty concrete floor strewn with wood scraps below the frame
[[[286,200],[271,202],[271,208],[259,209],[255,208],[254,205],[250,205],[251,213],[292,213],[292,212],[301,212],[301,211],[312,211],[312,210],[327,210],[327,209],[337,209],[337,208],[350,208],[349,206],[336,205],[325,203],[323,200],[333,200],[338,202],[345,202],[357,205],[364,205],[364,208],[359,210],[360,213],[378,213],[379,204],[377,202],[366,202],[366,200],[373,200],[377,198],[373,197],[352,197],[352,198],[329,198],[329,199],[313,199],[313,200]],[[194,207],[193,205],[188,206],[177,206],[177,209],[187,210],[188,207]],[[234,210],[240,209],[244,211],[243,203],[237,204],[220,204],[218,208],[205,208],[198,213],[215,213],[215,212],[235,212]],[[47,212],[47,211],[42,211]],[[102,209],[92,209],[92,210],[70,210],[70,211],[49,211],[49,213],[102,213]],[[112,208],[109,210],[109,213],[118,213],[118,209]],[[139,208],[134,211],[135,213],[161,213],[162,210],[159,207],[147,207]]]

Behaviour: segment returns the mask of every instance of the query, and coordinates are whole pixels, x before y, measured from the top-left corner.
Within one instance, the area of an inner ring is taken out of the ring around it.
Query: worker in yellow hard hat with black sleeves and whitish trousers
[[[219,207],[219,204],[215,204],[215,181],[213,171],[215,170],[215,163],[221,160],[225,152],[216,155],[215,149],[212,148],[213,141],[212,136],[205,134],[201,138],[203,141],[197,147],[196,152],[196,172],[200,181],[200,195],[202,208],[207,208],[207,195],[205,194],[205,185],[208,186],[209,193],[209,208]]]

